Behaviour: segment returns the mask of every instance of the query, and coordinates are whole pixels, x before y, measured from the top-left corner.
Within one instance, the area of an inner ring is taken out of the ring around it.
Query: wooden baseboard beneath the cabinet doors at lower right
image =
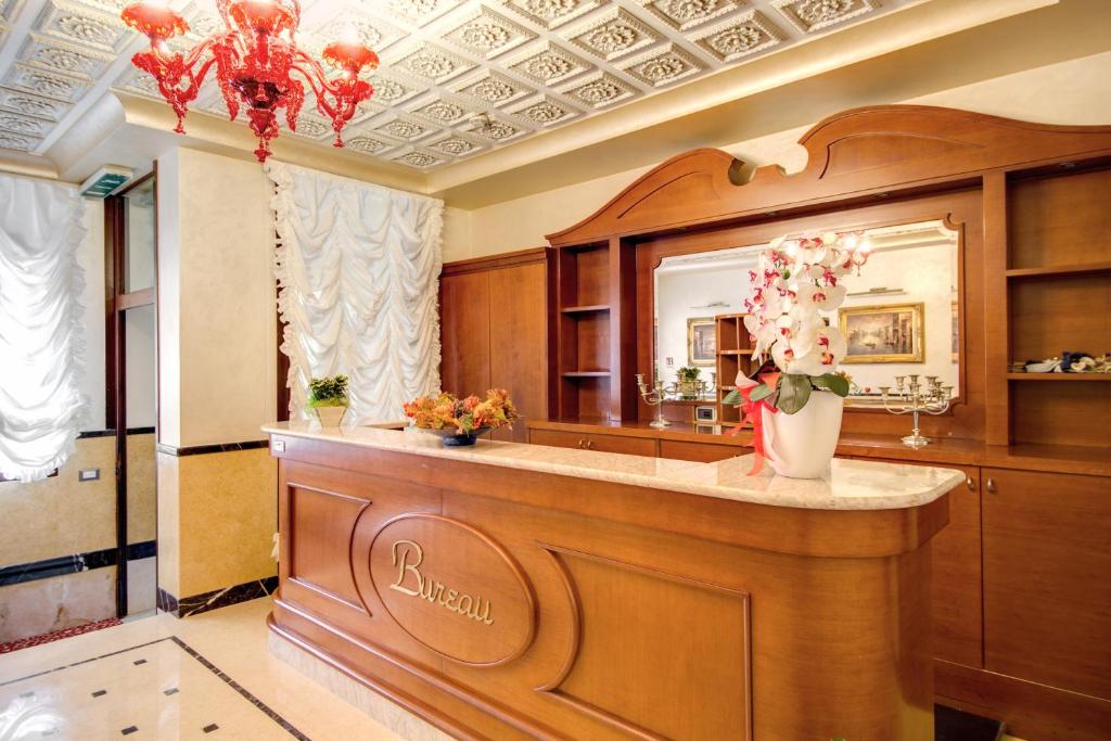
[[[1025,741],[1108,741],[1111,701],[935,659],[938,702],[995,718]]]

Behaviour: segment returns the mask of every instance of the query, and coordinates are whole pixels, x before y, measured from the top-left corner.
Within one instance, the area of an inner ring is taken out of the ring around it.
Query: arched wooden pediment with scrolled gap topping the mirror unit
[[[832,116],[799,140],[807,167],[788,176],[743,163],[719,149],[671,158],[578,224],[550,234],[556,247],[691,227],[817,200],[1053,159],[1111,154],[1111,127],[1062,127],[929,106],[879,106]]]

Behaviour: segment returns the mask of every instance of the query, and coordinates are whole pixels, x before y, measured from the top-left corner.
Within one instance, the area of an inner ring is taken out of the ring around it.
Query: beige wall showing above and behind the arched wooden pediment
[[[890,102],[962,108],[1042,123],[1108,124],[1109,79],[1111,52]],[[797,142],[809,128],[788,129],[723,149],[750,166],[775,163],[797,172],[805,164],[805,150]],[[672,154],[697,146],[684,141]],[[627,170],[470,211],[469,230],[446,234],[443,259],[464,260],[541,246],[544,234],[590,216],[650,169]]]

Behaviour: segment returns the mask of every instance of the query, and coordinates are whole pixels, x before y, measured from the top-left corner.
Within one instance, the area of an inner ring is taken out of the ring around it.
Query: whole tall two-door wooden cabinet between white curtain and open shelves
[[[440,278],[441,388],[509,389],[528,419],[547,419],[549,251],[450,262]],[[497,440],[528,441],[519,422]]]

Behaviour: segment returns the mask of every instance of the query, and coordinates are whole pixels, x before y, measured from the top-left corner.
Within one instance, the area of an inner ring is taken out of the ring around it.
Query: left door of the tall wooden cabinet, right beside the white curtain
[[[459,395],[490,388],[490,273],[440,279],[440,388]]]

